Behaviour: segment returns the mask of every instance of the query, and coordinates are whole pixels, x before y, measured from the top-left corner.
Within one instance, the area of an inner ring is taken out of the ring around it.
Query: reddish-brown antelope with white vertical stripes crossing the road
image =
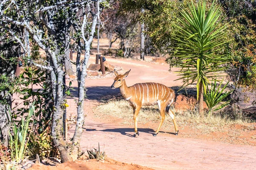
[[[157,104],[160,110],[161,115],[161,121],[157,128],[157,131],[155,131],[153,136],[157,136],[157,133],[160,130],[160,127],[163,124],[163,121],[165,119],[165,112],[171,116],[172,121],[174,123],[175,127],[175,135],[178,135],[178,128],[177,123],[175,119],[174,113],[170,110],[170,105],[174,102],[175,99],[175,92],[168,88],[167,86],[160,84],[160,83],[154,83],[154,82],[147,82],[147,83],[137,83],[131,87],[127,87],[125,83],[125,77],[128,76],[129,71],[127,71],[125,74],[118,74],[116,69],[114,70],[114,73],[116,75],[116,78],[114,79],[113,85],[111,85],[112,89],[120,88],[120,92],[122,96],[128,100],[131,107],[133,108],[134,113],[134,135],[133,137],[136,137],[136,135],[140,135],[137,129],[137,116],[140,111],[140,108],[143,105],[155,105]]]

